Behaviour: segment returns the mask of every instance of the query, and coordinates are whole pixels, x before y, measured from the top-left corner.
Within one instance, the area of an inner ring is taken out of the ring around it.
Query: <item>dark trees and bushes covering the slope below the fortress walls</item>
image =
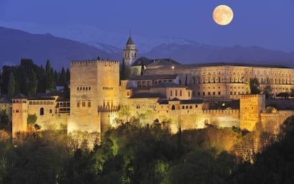
[[[62,131],[18,134],[11,144],[0,131],[0,183],[293,183],[293,126],[293,117],[285,121],[287,133],[253,165],[233,153],[256,135],[235,128],[172,135],[158,121],[131,121],[107,131],[101,144],[88,141],[97,134]]]

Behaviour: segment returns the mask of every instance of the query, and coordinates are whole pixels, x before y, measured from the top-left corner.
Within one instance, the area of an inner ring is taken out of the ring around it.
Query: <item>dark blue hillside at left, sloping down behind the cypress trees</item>
[[[31,34],[0,27],[0,67],[18,65],[21,58],[31,58],[36,65],[50,60],[53,68],[70,67],[71,60],[100,58],[121,60],[121,55],[106,53],[90,45],[74,40],[58,38],[50,34]]]

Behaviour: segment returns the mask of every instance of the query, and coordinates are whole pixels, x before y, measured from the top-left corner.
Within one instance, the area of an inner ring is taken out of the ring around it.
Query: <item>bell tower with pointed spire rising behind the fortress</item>
[[[126,66],[131,66],[134,63],[137,59],[137,53],[138,50],[130,33],[129,39],[126,41],[126,48],[124,48],[124,63]]]

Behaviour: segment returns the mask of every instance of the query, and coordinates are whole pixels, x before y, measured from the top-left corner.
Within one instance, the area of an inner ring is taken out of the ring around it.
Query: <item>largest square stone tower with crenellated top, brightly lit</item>
[[[70,70],[67,131],[106,131],[119,108],[119,62],[72,61]]]

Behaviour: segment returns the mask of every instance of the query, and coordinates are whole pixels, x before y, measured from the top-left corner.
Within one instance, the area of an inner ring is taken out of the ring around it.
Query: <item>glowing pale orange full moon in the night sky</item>
[[[219,5],[214,9],[212,17],[215,23],[220,26],[227,26],[232,22],[234,13],[229,6]]]

